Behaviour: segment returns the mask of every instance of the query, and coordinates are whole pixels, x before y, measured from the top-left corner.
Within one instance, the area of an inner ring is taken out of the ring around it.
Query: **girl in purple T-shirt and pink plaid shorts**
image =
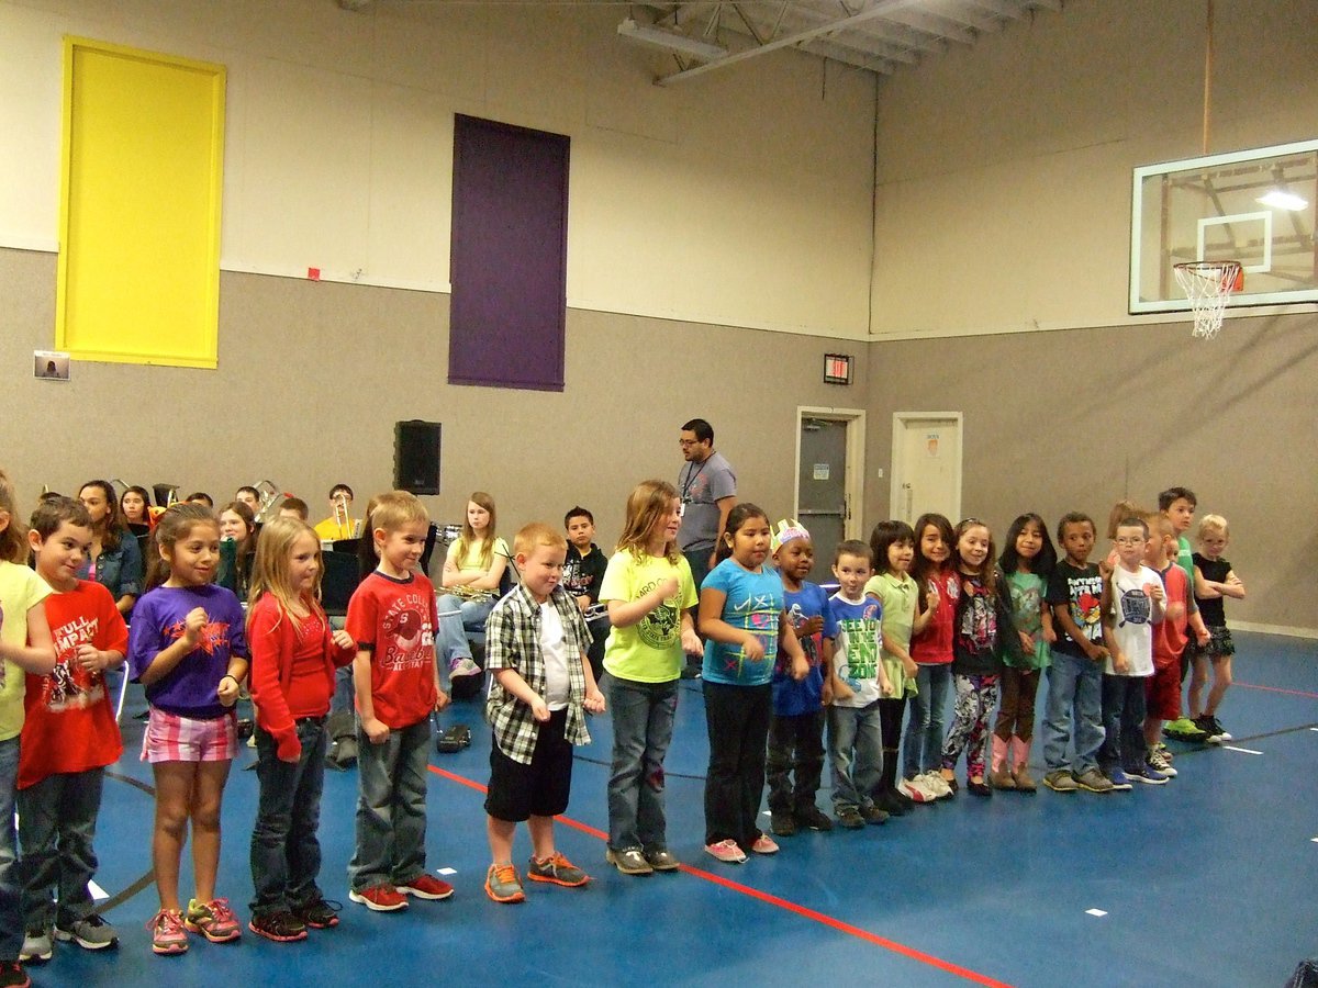
[[[148,929],[157,954],[182,954],[187,933],[212,943],[241,935],[228,900],[215,894],[215,873],[248,647],[237,597],[211,582],[220,530],[204,506],[174,505],[161,515],[148,556],[148,593],[133,610],[128,643],[130,674],[150,703],[142,760],[156,775],[152,864],[161,908]],[[196,894],[183,910],[178,872],[188,822]]]

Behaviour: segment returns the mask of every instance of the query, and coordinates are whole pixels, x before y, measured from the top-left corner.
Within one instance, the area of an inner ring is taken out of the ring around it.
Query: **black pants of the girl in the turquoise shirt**
[[[774,713],[772,688],[702,684],[709,731],[705,773],[705,843],[733,839],[742,851],[760,834],[759,804],[764,796],[764,750]]]

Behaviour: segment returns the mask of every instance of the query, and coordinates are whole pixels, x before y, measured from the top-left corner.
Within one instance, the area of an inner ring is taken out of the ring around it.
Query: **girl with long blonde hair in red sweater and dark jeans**
[[[261,784],[248,929],[279,943],[306,939],[308,926],[339,923],[316,884],[316,827],[335,669],[352,661],[356,645],[348,632],[330,628],[318,599],[320,573],[320,540],[311,526],[295,518],[265,526],[248,611]]]

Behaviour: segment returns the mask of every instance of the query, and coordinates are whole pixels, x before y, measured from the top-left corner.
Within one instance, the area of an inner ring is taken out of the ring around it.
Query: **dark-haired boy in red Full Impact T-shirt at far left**
[[[87,883],[96,872],[92,840],[105,765],[124,751],[103,673],[123,665],[128,628],[109,590],[78,578],[92,543],[91,516],[80,502],[43,502],[32,515],[28,540],[37,574],[54,590],[46,598],[46,618],[55,668],[45,676],[28,674],[18,750],[18,873],[26,929],[20,956],[41,962],[50,959],[55,938],[87,950],[119,942],[115,927],[96,914]]]

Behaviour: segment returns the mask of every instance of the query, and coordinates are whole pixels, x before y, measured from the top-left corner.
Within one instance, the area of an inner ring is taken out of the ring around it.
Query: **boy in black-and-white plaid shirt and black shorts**
[[[485,719],[494,731],[485,797],[493,862],[485,892],[496,902],[526,898],[513,865],[519,821],[531,831],[531,881],[575,888],[590,879],[554,847],[554,817],[568,808],[572,746],[589,744],[585,713],[604,713],[587,661],[590,631],[560,585],[567,540],[532,522],[517,534],[513,559],[522,582],[485,623],[485,663],[494,676]]]

